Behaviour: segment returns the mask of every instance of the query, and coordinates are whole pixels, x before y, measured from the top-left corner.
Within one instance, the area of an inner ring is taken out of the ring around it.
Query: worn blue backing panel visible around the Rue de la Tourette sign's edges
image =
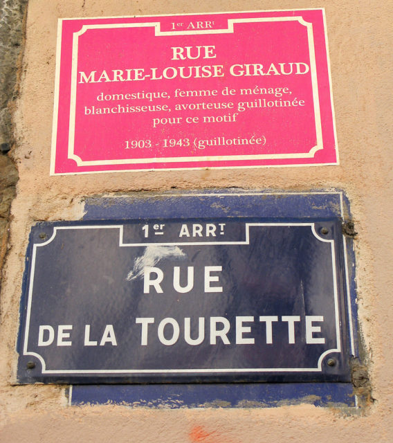
[[[100,219],[146,219],[154,217],[184,218],[197,217],[201,221],[212,217],[266,217],[282,221],[282,219],[311,219],[333,217],[339,220],[349,215],[347,199],[342,192],[310,192],[300,194],[276,194],[271,192],[244,192],[209,191],[166,193],[149,195],[138,193],[122,198],[87,199],[85,205],[87,220]],[[347,255],[345,255],[344,250]],[[357,355],[356,334],[356,303],[354,275],[352,275],[354,257],[351,239],[344,240],[344,247],[340,253],[340,267],[349,268],[349,277],[340,278],[340,285],[348,292],[345,296],[347,305],[342,328],[343,334],[351,342],[348,355]],[[342,281],[341,281],[342,280]],[[346,280],[346,281],[345,281]],[[351,309],[349,309],[349,307]],[[230,388],[228,388],[230,387]],[[283,388],[281,388],[283,387]],[[180,406],[195,406],[208,404],[222,399],[218,406],[241,406],[248,401],[257,401],[258,406],[275,406],[277,401],[289,400],[307,401],[315,399],[317,406],[329,404],[329,401],[354,405],[354,396],[351,394],[350,383],[231,383],[223,384],[191,384],[175,386],[156,384],[154,386],[73,386],[72,404],[82,404],[85,401],[99,403],[113,401],[127,404],[136,404],[141,398],[152,399],[145,402],[145,406],[168,406],[167,399],[172,398],[174,389]],[[210,392],[211,395],[208,395]],[[237,397],[232,399],[225,392],[236,392]],[[273,392],[273,393],[272,393]],[[281,393],[280,393],[281,392]],[[312,397],[316,395],[316,397]],[[269,397],[270,396],[270,397]],[[310,397],[311,396],[311,397]],[[154,398],[156,400],[154,400]],[[227,402],[227,403],[226,403]],[[248,404],[249,406],[250,404]],[[214,406],[214,405],[210,405]]]

